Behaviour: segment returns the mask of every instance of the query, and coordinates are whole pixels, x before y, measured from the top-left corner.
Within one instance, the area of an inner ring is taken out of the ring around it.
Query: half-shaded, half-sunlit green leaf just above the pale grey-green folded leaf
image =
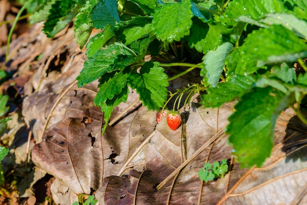
[[[197,51],[206,53],[215,50],[222,44],[222,34],[214,26],[205,24],[195,17],[192,21],[193,26],[190,29],[190,35],[187,37],[190,48],[195,47]]]

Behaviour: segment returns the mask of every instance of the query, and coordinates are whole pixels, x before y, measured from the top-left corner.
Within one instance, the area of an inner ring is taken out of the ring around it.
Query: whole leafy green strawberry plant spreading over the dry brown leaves
[[[159,110],[183,94],[205,107],[236,100],[226,132],[241,165],[261,166],[273,147],[276,118],[297,116],[307,94],[307,3],[301,0],[29,0],[32,23],[53,37],[74,21],[87,60],[82,87],[99,80],[94,100],[105,127],[129,87]],[[93,29],[101,32],[90,37]],[[145,60],[145,56],[151,60]],[[298,63],[300,70],[293,68]],[[193,74],[193,75],[192,75]],[[169,82],[190,80],[175,92]],[[175,108],[175,104],[174,104]]]

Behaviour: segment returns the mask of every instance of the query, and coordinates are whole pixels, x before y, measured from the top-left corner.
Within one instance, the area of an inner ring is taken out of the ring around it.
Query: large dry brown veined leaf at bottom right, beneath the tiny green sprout
[[[222,111],[223,108],[226,111]],[[187,146],[188,148],[192,147],[193,151],[186,152],[187,160],[183,162],[183,166],[179,166],[178,162],[179,158],[183,158],[184,152],[178,154],[177,147],[179,145],[175,142],[176,140],[170,139],[167,132],[159,130],[159,128],[163,129],[163,123],[161,127],[157,126],[156,132],[160,132],[160,134],[154,134],[151,142],[146,145],[147,148],[144,147],[144,152],[147,153],[145,154],[146,166],[144,170],[131,170],[128,175],[104,178],[102,187],[96,194],[100,203],[107,205],[236,205],[300,202],[305,204],[306,197],[304,198],[304,196],[307,187],[307,179],[304,177],[307,174],[306,134],[291,128],[288,128],[285,133],[285,122],[279,118],[275,130],[275,147],[271,157],[261,168],[241,169],[239,164],[230,161],[227,136],[223,132],[218,132],[223,124],[219,127],[216,123],[224,122],[225,125],[225,119],[230,114],[230,110],[230,106],[224,105],[218,111],[219,114],[223,113],[221,115],[223,118],[219,119],[219,115],[213,114],[217,113],[214,109],[192,107],[182,136],[184,135],[187,144],[189,143],[188,139],[191,139],[190,143],[194,142],[195,148],[193,149],[191,144]],[[210,116],[210,112],[212,116]],[[281,117],[285,117],[285,121],[289,120],[287,113],[283,113]],[[212,132],[209,134],[210,129]],[[202,134],[198,134],[197,130],[202,130]],[[159,136],[161,133],[163,133],[162,136]],[[189,135],[190,133],[192,135]],[[214,135],[214,133],[218,134]],[[179,139],[181,138],[178,131],[175,135]],[[194,136],[196,138],[193,139]],[[215,139],[213,143],[209,146],[203,146],[197,151],[207,141],[212,141],[212,138]],[[173,145],[166,139],[171,141]],[[152,143],[155,145],[151,148]],[[195,152],[198,154],[193,155]],[[230,172],[225,178],[208,183],[199,179],[198,172],[207,160],[212,163],[223,158],[228,158],[231,166]],[[172,177],[165,180],[168,176]],[[164,184],[164,182],[166,183]],[[160,183],[163,185],[161,186]]]

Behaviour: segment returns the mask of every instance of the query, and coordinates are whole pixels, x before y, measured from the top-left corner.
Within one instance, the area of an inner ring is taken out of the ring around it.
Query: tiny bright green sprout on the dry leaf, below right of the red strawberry
[[[215,161],[212,165],[207,162],[204,164],[204,168],[201,169],[198,173],[198,176],[201,180],[204,180],[206,183],[213,180],[214,178],[224,177],[228,172],[227,159],[222,159],[221,162]]]

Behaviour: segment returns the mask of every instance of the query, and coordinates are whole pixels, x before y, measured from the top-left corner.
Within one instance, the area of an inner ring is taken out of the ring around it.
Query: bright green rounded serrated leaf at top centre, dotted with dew
[[[193,13],[191,1],[163,4],[153,15],[153,33],[162,41],[172,43],[189,35]]]

